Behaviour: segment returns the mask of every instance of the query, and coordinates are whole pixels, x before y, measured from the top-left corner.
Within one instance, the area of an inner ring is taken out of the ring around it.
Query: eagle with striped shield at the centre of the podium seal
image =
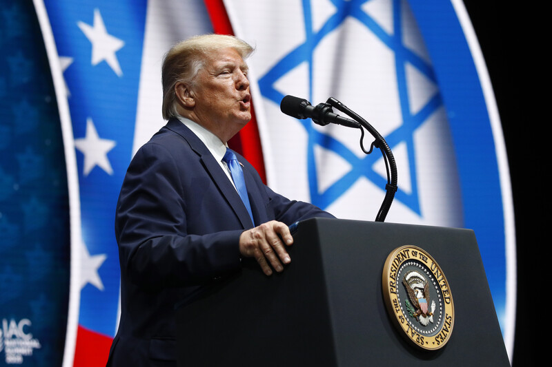
[[[415,270],[408,271],[402,278],[402,284],[408,293],[408,300],[405,301],[408,314],[424,326],[433,323],[435,301],[431,302],[429,298],[429,284],[424,275]]]

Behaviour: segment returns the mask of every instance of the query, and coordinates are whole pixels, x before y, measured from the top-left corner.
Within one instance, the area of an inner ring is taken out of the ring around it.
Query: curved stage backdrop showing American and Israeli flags
[[[279,103],[332,96],[353,109],[397,161],[386,221],[475,231],[511,353],[509,171],[461,1],[1,0],[0,10],[0,364],[105,364],[119,319],[121,182],[164,125],[164,53],[207,32],[256,48],[255,116],[231,144],[268,185],[339,218],[374,220],[381,154],[362,153],[357,129],[297,120]]]

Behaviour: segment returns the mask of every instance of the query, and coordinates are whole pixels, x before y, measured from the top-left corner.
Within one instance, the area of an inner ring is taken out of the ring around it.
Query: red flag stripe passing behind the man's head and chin
[[[232,23],[224,8],[222,0],[204,0],[205,7],[213,23],[213,30],[217,34],[234,34]],[[248,160],[261,176],[266,184],[266,171],[264,169],[263,150],[255,109],[251,104],[251,120],[236,136],[228,142],[228,145]]]

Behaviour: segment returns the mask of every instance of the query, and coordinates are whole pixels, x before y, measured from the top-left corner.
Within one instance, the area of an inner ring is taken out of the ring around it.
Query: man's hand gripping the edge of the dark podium
[[[258,227],[244,231],[239,236],[239,252],[246,258],[255,258],[266,275],[272,274],[272,268],[280,272],[291,258],[286,251],[293,244],[293,237],[286,224],[271,220]]]

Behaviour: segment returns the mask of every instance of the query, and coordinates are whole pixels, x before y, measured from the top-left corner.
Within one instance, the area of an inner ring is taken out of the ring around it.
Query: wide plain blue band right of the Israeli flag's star
[[[431,54],[457,150],[464,226],[473,229],[477,236],[493,301],[504,328],[506,208],[502,205],[497,152],[480,76],[450,2],[413,1],[411,8]]]

